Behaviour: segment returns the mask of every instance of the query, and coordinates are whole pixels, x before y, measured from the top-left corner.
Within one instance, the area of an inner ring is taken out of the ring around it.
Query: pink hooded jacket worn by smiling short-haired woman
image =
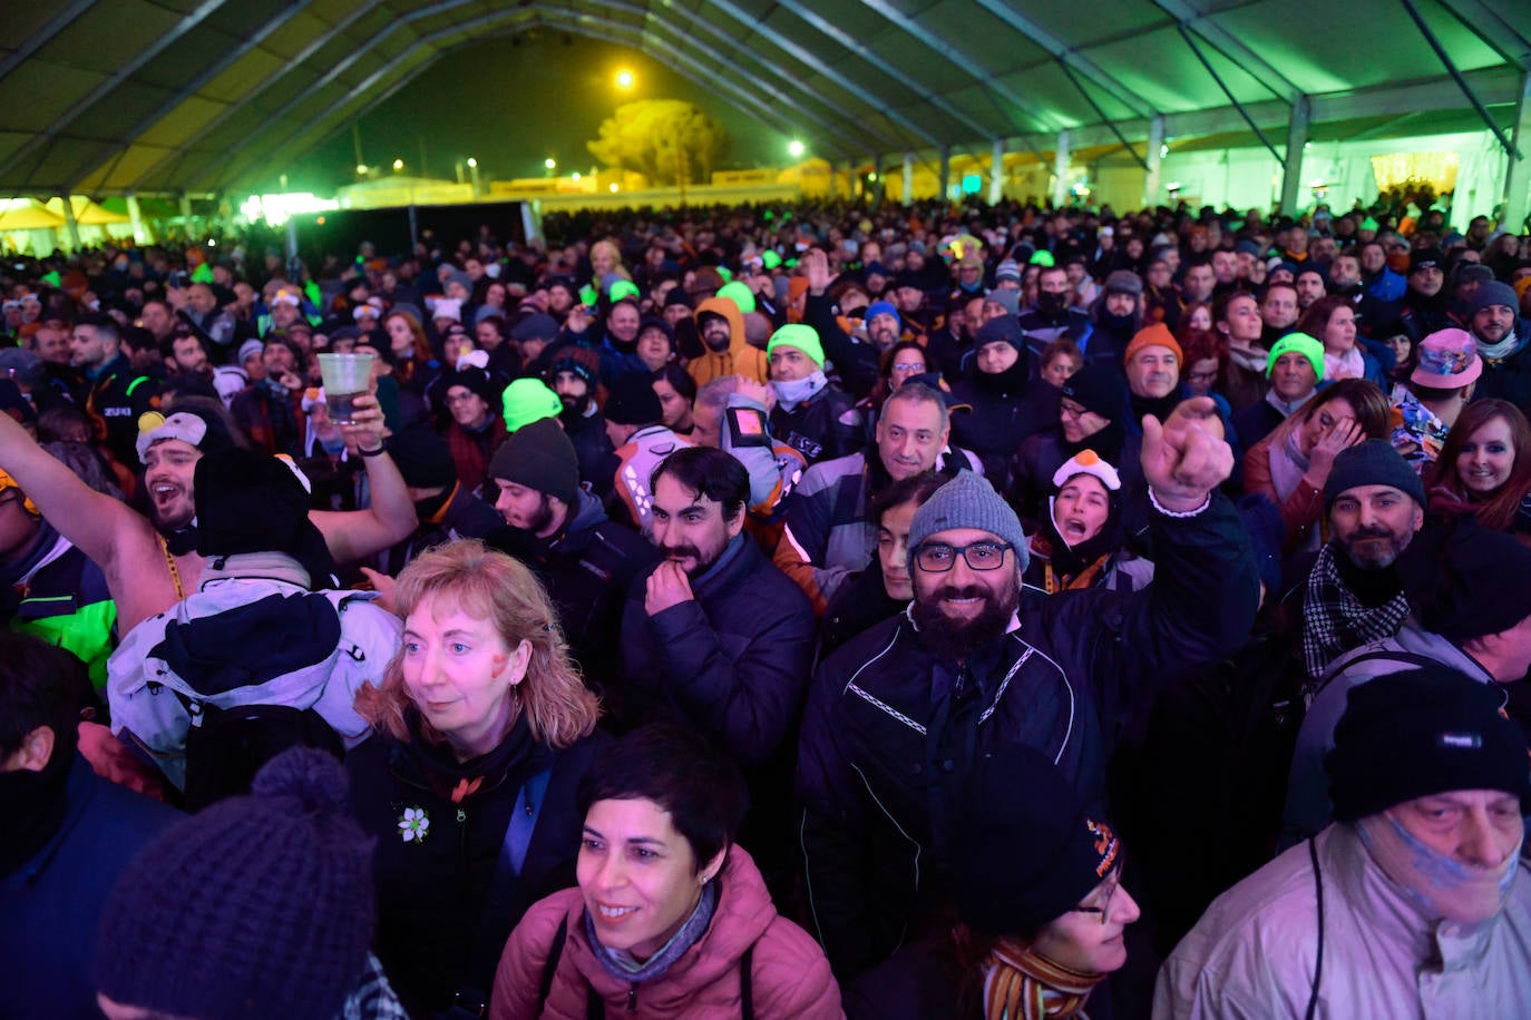
[[[741,1015],[741,957],[750,959],[750,1000],[761,1020],[837,1020],[841,992],[824,950],[776,913],[755,861],[729,849],[718,875],[718,907],[707,931],[668,971],[641,983],[608,973],[585,934],[579,888],[548,896],[510,933],[495,974],[491,1020],[583,1020],[591,996],[606,1015],[666,1020],[736,1020]],[[537,992],[559,924],[565,942],[542,1011]]]

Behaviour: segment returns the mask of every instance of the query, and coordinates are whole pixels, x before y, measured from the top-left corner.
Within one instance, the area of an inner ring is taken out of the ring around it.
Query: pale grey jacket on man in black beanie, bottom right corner
[[[1531,1002],[1525,861],[1496,918],[1456,925],[1430,921],[1353,826],[1330,826],[1317,850],[1324,888],[1317,1017],[1523,1014]],[[1309,849],[1297,846],[1219,896],[1159,971],[1154,1020],[1304,1015],[1318,965],[1317,888]]]

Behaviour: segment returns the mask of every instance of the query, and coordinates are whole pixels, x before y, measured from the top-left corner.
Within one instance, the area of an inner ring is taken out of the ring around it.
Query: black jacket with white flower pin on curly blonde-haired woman
[[[596,733],[554,751],[525,716],[495,751],[458,763],[442,745],[374,734],[346,757],[351,800],[377,838],[377,954],[412,1015],[452,1005],[464,988],[487,999],[510,930],[531,904],[574,884],[583,817],[574,789],[609,737]],[[521,873],[496,884],[496,866],[524,783],[551,769]],[[453,795],[473,780],[473,792]],[[426,836],[406,841],[406,810],[424,810]]]

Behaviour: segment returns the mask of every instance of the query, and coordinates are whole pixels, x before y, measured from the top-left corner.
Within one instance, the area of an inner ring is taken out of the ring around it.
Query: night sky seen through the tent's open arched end
[[[615,86],[620,69],[637,80],[626,92]],[[478,159],[485,185],[495,179],[540,177],[548,156],[559,161],[560,174],[585,173],[596,165],[585,142],[596,138],[600,122],[619,104],[631,99],[686,99],[710,113],[732,138],[721,170],[792,162],[787,136],[661,63],[622,46],[550,29],[514,41],[487,40],[441,58],[361,116],[361,154],[367,165],[386,167],[401,158],[404,173],[418,174],[424,139],[424,176],[455,179],[453,164],[467,156]],[[329,194],[355,180],[355,165],[346,124],[289,170],[288,187]]]

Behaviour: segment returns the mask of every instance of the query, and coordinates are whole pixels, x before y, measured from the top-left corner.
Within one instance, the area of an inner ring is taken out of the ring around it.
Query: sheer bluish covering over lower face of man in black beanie
[[[1510,899],[1519,843],[1499,867],[1468,867],[1427,847],[1387,812],[1363,818],[1356,829],[1378,867],[1430,918],[1480,924]]]

